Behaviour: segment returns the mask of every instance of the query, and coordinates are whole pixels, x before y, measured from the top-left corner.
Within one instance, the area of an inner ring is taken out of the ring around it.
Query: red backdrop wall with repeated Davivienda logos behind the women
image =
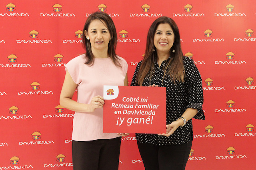
[[[129,82],[150,24],[159,16],[176,21],[183,53],[202,76],[206,115],[193,119],[186,169],[252,169],[255,7],[251,0],[1,0],[0,170],[72,169],[74,112],[58,106],[59,95],[64,65],[84,53],[79,30],[97,10],[114,20]],[[122,138],[120,170],[143,169],[134,136]]]

